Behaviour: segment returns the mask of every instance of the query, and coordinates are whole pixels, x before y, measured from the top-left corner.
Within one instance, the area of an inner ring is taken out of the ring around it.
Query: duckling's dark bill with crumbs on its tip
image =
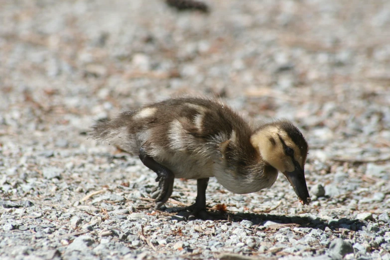
[[[309,195],[309,191],[307,190],[306,180],[305,180],[305,172],[299,165],[295,166],[295,170],[288,172],[285,171],[283,174],[287,177],[287,180],[290,182],[292,188],[295,191],[295,194],[299,198],[299,202],[302,205],[309,205],[311,199]]]

